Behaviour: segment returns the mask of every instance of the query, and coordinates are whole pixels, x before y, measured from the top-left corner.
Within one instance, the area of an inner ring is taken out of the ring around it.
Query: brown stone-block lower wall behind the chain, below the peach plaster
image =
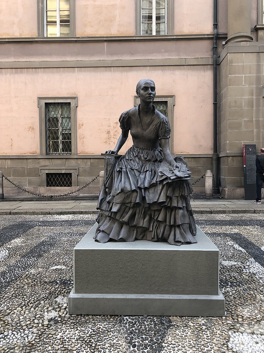
[[[192,172],[193,183],[205,174],[207,169],[212,170],[212,155],[182,155]],[[104,170],[104,158],[101,156],[77,156],[77,157],[52,157],[48,156],[6,156],[0,158],[0,170],[5,177],[14,183],[35,193],[60,194],[74,191],[78,187],[89,183],[101,170]],[[45,170],[56,172],[76,173],[76,183],[73,177],[72,187],[46,187],[43,174]],[[205,192],[205,178],[194,186],[194,192]],[[23,195],[23,192],[12,186],[4,179],[5,195]],[[87,186],[81,194],[99,194],[99,178],[91,186]]]

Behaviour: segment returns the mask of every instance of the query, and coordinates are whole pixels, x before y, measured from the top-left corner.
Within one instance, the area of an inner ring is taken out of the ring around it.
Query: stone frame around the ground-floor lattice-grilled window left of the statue
[[[40,137],[40,155],[53,156],[46,154],[46,114],[45,103],[70,103],[71,104],[71,154],[61,154],[54,156],[77,155],[77,106],[78,97],[38,97],[39,107],[39,137]]]

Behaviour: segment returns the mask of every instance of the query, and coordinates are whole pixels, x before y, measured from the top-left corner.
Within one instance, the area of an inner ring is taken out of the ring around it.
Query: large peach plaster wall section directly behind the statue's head
[[[133,107],[138,80],[155,80],[157,94],[176,96],[174,152],[212,153],[212,67],[5,69],[1,77],[0,155],[39,154],[37,97],[78,96],[78,154],[114,148],[119,115]],[[120,152],[132,145],[128,139]]]

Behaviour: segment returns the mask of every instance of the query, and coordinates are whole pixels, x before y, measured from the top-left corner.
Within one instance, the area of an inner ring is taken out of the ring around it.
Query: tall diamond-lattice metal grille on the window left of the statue
[[[46,154],[71,154],[71,104],[45,103]]]

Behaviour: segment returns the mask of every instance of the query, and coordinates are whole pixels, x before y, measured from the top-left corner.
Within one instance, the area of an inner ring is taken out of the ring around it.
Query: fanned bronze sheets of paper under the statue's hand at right
[[[176,162],[176,168],[173,169],[169,163],[166,161],[163,161],[158,170],[158,179],[157,181],[161,181],[164,179],[169,179],[169,181],[172,180],[187,180],[191,179],[191,172],[188,168],[187,163],[184,161],[184,158],[182,157],[176,157],[175,158]],[[165,180],[164,180],[165,181]]]

